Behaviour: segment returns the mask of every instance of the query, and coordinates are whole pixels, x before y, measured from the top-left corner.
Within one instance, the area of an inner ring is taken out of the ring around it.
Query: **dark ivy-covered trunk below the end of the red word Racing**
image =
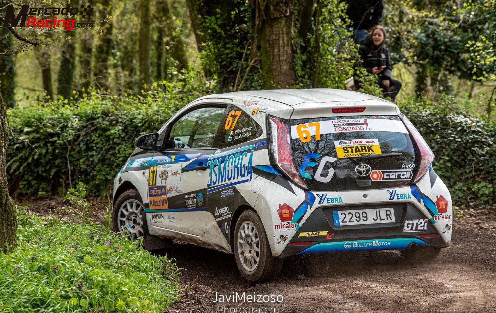
[[[67,37],[71,37],[67,41]],[[74,64],[76,57],[76,32],[65,32],[66,41],[62,45],[61,50],[61,66],[59,70],[59,86],[57,88],[57,95],[62,96],[64,99],[70,98],[72,92],[72,81],[74,80]]]

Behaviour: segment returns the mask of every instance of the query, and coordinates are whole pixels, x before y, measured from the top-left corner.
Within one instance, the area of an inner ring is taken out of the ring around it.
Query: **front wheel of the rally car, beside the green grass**
[[[126,232],[132,241],[144,235],[145,207],[136,189],[125,191],[114,205],[112,230]]]

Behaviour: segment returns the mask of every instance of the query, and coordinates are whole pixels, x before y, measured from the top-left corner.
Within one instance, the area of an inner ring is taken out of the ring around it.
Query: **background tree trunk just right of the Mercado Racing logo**
[[[97,2],[97,7],[102,20],[107,16],[112,15],[112,4],[109,0],[99,0]],[[108,90],[110,88],[109,57],[112,45],[113,23],[111,21],[108,23],[103,23],[100,29],[103,33],[101,36],[98,36],[98,40],[96,42],[95,67],[93,73],[96,87],[101,90]]]

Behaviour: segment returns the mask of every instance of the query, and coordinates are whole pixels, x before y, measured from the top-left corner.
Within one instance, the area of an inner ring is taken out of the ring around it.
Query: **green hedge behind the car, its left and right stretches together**
[[[211,92],[207,85],[186,86],[162,86],[145,97],[92,92],[79,101],[10,110],[15,136],[38,150],[19,140],[10,143],[11,191],[64,194],[70,187],[69,163],[72,186],[82,181],[92,196],[110,193],[112,179],[134,150],[134,139],[158,130],[174,111]],[[454,205],[495,207],[496,125],[455,112],[448,100],[435,104],[410,100],[401,110],[431,146],[434,169],[450,189]]]

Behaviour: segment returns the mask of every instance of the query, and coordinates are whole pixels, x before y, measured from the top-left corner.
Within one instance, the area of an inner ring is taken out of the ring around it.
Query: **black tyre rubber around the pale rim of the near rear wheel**
[[[240,255],[240,228],[245,227],[247,224],[253,226],[253,229],[255,230],[254,232],[257,233],[258,238],[257,243],[259,254],[254,270],[248,270],[246,268],[246,265],[243,263],[244,261],[241,260],[242,256]],[[258,217],[254,210],[248,209],[241,213],[238,221],[236,222],[233,244],[233,253],[236,259],[236,264],[238,265],[241,275],[243,275],[246,280],[250,282],[264,282],[273,279],[281,271],[283,260],[272,257],[270,245],[267,240],[267,234],[265,233],[260,217]]]

